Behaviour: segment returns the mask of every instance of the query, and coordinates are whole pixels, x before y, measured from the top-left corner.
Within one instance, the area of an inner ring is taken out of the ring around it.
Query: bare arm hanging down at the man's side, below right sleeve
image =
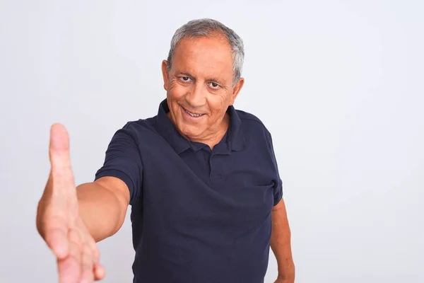
[[[273,207],[271,219],[271,249],[278,263],[278,279],[276,282],[293,283],[295,282],[295,264],[290,245],[290,226],[283,199]]]

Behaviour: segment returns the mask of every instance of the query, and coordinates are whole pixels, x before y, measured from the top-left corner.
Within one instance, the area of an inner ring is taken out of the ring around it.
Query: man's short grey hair
[[[245,47],[243,41],[234,30],[211,18],[201,18],[189,21],[175,31],[171,40],[170,52],[167,57],[168,71],[172,67],[172,57],[174,57],[175,48],[180,40],[185,37],[211,37],[216,35],[216,33],[224,35],[231,45],[232,71],[234,73],[233,84],[235,85],[242,76],[242,67],[245,60]]]

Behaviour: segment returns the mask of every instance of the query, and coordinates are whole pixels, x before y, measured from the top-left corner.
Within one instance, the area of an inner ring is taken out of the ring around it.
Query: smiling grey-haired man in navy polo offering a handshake
[[[264,282],[270,246],[276,282],[294,282],[271,134],[232,106],[243,58],[240,37],[218,21],[179,28],[158,115],[119,129],[95,181],[76,190],[66,129],[52,126],[37,229],[61,282],[105,277],[95,243],[119,230],[129,204],[134,282]]]

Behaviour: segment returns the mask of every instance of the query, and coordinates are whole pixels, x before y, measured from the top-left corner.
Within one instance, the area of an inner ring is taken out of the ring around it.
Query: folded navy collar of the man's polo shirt
[[[189,141],[179,134],[177,128],[167,117],[167,112],[169,111],[170,108],[165,98],[165,100],[160,103],[158,115],[156,116],[155,127],[159,134],[166,139],[175,151],[177,151],[177,154],[181,154],[189,148],[192,148],[193,151],[203,149],[206,144]],[[227,112],[230,115],[230,127],[228,127],[228,131],[223,137],[223,140],[214,147],[214,149],[218,151],[217,153],[220,154],[230,154],[231,151],[241,151],[245,148],[245,137],[241,129],[242,121],[232,105],[228,108]]]

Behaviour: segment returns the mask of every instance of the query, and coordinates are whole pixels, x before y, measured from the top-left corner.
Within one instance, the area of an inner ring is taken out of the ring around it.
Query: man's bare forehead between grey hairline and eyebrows
[[[175,48],[172,67],[196,76],[232,78],[231,46],[222,35],[183,38]]]

